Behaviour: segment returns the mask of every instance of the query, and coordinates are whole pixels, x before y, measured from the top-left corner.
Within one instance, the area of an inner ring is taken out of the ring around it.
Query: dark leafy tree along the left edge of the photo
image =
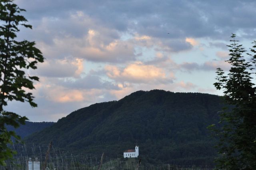
[[[0,26],[0,165],[4,165],[4,160],[12,158],[15,153],[8,148],[8,144],[12,144],[11,137],[20,140],[14,131],[6,129],[6,125],[17,128],[27,120],[24,116],[5,111],[4,106],[12,100],[37,106],[32,93],[26,92],[26,89],[34,89],[33,81],[38,81],[38,77],[26,76],[25,70],[36,69],[36,64],[44,60],[40,50],[34,47],[35,42],[15,40],[20,31],[19,25],[32,28],[25,24],[26,18],[19,14],[22,11],[25,10],[12,0],[0,0],[0,21],[3,23]]]

